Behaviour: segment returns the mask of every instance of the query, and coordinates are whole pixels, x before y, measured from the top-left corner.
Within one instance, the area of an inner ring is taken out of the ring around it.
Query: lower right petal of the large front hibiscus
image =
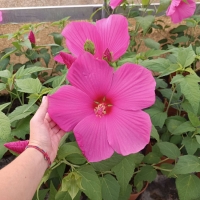
[[[139,152],[149,143],[151,120],[143,111],[125,111],[113,107],[106,127],[110,146],[124,156]]]

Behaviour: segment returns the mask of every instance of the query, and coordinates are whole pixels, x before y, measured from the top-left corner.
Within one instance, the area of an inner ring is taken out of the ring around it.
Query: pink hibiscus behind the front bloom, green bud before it
[[[128,21],[122,15],[111,15],[92,24],[71,22],[62,31],[70,52],[78,57],[85,51],[96,58],[116,61],[129,45]],[[61,58],[62,59],[62,58]]]

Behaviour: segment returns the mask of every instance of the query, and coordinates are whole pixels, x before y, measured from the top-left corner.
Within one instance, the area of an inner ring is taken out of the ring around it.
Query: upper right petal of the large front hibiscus
[[[155,102],[155,80],[151,72],[136,64],[124,64],[114,73],[107,98],[126,110],[140,110]]]

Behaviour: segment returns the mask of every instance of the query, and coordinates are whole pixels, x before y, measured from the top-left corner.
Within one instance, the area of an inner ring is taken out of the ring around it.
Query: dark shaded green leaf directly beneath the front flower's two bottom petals
[[[100,162],[91,163],[91,165],[94,167],[96,171],[100,172],[109,171],[111,168],[113,168],[115,165],[121,162],[122,159],[123,159],[122,155],[114,153],[110,158]]]

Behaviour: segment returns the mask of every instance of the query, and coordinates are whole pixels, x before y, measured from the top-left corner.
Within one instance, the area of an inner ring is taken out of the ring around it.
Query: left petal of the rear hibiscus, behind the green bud
[[[84,44],[87,40],[91,40],[95,45],[95,57],[102,57],[101,38],[94,24],[71,22],[64,28],[62,35],[66,38],[68,49],[76,57],[85,51]]]

